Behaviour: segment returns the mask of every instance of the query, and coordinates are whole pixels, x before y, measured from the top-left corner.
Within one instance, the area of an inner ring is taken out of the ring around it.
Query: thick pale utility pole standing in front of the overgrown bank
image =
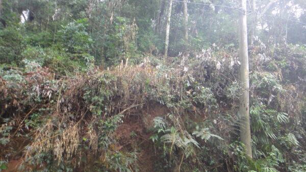
[[[247,54],[246,0],[241,0],[243,13],[239,14],[239,60],[242,94],[240,96],[239,119],[240,138],[245,145],[246,154],[252,158],[251,132],[249,120],[249,67]]]

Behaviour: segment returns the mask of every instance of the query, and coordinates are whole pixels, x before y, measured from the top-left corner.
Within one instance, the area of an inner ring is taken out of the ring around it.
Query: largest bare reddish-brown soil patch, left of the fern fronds
[[[155,117],[165,116],[169,112],[164,105],[154,103],[149,107],[143,107],[139,114],[131,114],[124,119],[116,130],[116,137],[119,139],[119,149],[138,150],[138,164],[140,171],[154,171],[154,163],[156,161],[154,145],[149,137],[152,135],[149,129],[153,127],[152,120]]]

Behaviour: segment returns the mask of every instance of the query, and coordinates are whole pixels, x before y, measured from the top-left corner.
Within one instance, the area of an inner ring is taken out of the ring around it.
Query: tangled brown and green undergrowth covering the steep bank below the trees
[[[23,170],[306,170],[305,48],[263,51],[250,54],[253,159],[238,141],[237,52],[208,48],[73,75],[31,59],[3,65],[0,169],[21,159]],[[141,129],[120,135],[133,125]]]

